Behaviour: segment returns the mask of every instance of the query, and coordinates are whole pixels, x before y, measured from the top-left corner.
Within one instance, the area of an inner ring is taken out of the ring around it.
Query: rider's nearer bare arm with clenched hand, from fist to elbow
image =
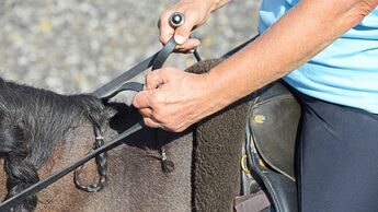
[[[150,127],[182,131],[295,70],[358,24],[378,0],[302,0],[264,35],[208,74],[152,72],[134,105]],[[156,89],[159,85],[159,89]]]

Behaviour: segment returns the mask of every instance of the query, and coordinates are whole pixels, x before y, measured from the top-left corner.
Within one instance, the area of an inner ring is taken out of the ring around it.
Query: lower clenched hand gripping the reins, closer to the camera
[[[206,74],[168,67],[147,75],[146,90],[134,97],[133,105],[148,127],[179,132],[213,113],[210,91]]]

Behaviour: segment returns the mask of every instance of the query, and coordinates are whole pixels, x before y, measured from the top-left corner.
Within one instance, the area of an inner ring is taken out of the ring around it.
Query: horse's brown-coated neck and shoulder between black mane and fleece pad
[[[117,127],[113,125],[113,128]],[[118,134],[110,127],[105,131],[107,142]],[[93,139],[93,127],[89,122],[70,130],[41,169],[41,178],[83,156],[92,146]],[[149,145],[156,139],[153,131],[145,130],[110,151],[107,184],[100,192],[88,193],[77,189],[70,174],[38,196],[37,211],[190,211],[192,133],[165,134],[165,139],[171,141],[165,145],[167,154],[175,165],[174,170],[168,174],[161,169],[159,152]],[[93,160],[85,164],[81,175],[83,182],[96,181],[95,168]]]

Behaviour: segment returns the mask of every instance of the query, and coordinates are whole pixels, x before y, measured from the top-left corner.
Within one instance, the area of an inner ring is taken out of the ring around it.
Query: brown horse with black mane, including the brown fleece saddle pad
[[[218,60],[187,71],[202,73]],[[107,181],[98,192],[75,188],[72,174],[12,211],[232,211],[240,191],[240,148],[248,101],[242,99],[181,133],[145,129],[107,153]],[[105,141],[139,119],[122,103],[103,104],[92,95],[59,95],[0,80],[1,193],[8,199],[91,150],[93,127]],[[157,142],[157,139],[159,142]],[[159,145],[174,163],[161,168]],[[96,181],[92,160],[83,184]]]

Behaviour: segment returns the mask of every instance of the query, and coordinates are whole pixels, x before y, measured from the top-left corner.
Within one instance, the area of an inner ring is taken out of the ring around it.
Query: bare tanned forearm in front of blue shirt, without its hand
[[[218,107],[279,79],[310,60],[378,4],[357,0],[303,0],[265,34],[206,75]]]

